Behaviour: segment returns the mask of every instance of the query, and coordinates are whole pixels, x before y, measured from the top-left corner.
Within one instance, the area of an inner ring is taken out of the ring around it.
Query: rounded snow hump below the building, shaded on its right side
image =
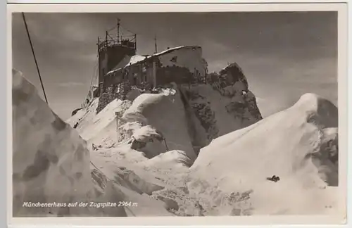
[[[118,125],[128,132],[129,127],[138,127],[137,123],[142,128],[130,131],[132,145],[147,158],[172,150],[184,151],[191,160],[196,158],[180,91],[175,85],[159,94],[138,96],[121,115]]]

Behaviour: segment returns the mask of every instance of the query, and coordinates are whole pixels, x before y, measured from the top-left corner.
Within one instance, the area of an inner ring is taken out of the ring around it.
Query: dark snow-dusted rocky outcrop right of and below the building
[[[183,86],[185,106],[191,106],[196,118],[206,131],[206,141],[252,125],[262,119],[256,96],[237,63],[211,73],[208,84]],[[204,140],[202,140],[204,141]]]

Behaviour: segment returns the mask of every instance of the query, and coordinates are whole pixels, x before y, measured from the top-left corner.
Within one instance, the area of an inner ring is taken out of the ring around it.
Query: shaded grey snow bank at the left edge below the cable
[[[65,207],[26,208],[23,203],[82,201],[92,190],[85,142],[13,71],[13,215],[64,215]]]

